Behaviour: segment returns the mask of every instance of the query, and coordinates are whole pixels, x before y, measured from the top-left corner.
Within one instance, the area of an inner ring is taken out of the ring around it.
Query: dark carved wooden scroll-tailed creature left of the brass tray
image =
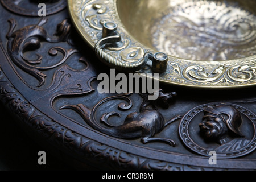
[[[63,54],[63,58],[54,65],[47,67],[36,66],[42,63],[43,56],[37,54],[37,59],[29,60],[24,57],[24,53],[26,51],[38,49],[40,47],[41,40],[49,43],[66,41],[68,39],[71,27],[68,20],[65,19],[63,22],[57,25],[56,35],[58,36],[55,38],[48,36],[47,31],[42,27],[43,24],[47,22],[46,18],[40,20],[40,22],[36,25],[26,26],[16,31],[16,20],[10,19],[9,22],[10,30],[6,35],[8,39],[7,52],[9,53],[9,56],[14,64],[16,64],[23,71],[34,76],[39,81],[38,87],[42,86],[45,82],[46,75],[42,71],[58,67],[59,65],[63,64],[69,56],[77,52],[76,49],[65,50],[61,47],[53,47],[49,49],[49,55],[55,56],[57,55],[57,52],[61,52]]]

